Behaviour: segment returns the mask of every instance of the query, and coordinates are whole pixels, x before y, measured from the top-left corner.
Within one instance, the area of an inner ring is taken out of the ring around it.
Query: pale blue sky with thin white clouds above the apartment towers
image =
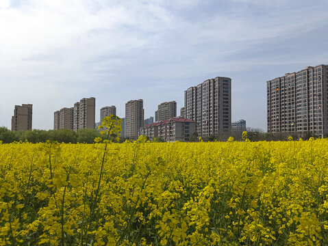
[[[33,128],[96,98],[125,116],[215,77],[231,78],[231,120],[266,131],[266,81],[328,64],[327,0],[0,0],[0,126],[33,104]]]

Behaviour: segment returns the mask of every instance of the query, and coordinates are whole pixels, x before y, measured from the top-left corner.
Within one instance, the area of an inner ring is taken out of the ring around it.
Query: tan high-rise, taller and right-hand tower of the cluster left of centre
[[[74,104],[73,130],[94,129],[96,98],[82,98]]]

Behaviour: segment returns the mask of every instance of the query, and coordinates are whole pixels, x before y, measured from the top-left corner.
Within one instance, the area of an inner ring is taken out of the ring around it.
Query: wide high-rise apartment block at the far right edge
[[[268,133],[312,133],[327,130],[328,66],[309,66],[266,82]]]

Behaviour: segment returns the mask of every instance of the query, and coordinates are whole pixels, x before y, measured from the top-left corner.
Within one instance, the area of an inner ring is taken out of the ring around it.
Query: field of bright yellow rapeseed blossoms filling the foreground
[[[0,144],[0,245],[328,245],[328,140]]]

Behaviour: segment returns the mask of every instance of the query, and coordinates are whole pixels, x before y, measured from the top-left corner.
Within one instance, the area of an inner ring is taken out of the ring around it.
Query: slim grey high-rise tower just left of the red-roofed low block
[[[125,103],[125,137],[136,139],[138,131],[144,125],[142,99],[129,100]]]

